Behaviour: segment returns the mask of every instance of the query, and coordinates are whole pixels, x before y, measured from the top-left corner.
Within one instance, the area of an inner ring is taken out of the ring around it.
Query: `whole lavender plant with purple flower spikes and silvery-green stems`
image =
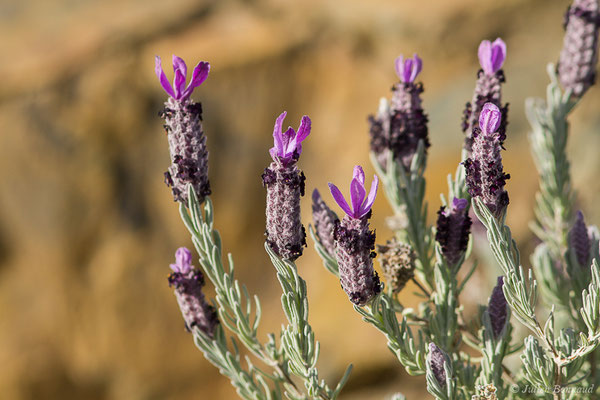
[[[501,86],[507,46],[500,38],[479,46],[481,70],[463,115],[462,161],[448,178],[448,197],[441,196],[435,225],[427,222],[424,201],[430,142],[423,85],[416,82],[423,61],[416,54],[396,59],[399,82],[391,99],[382,99],[377,113],[369,117],[371,160],[377,172],[370,190],[362,167],[355,166],[348,198],[333,183],[331,197],[313,191],[309,232],[326,270],[339,279],[362,319],[384,335],[406,371],[425,376],[425,386],[436,399],[582,398],[573,390],[577,387],[589,398],[597,396],[600,234],[573,209],[566,143],[567,118],[594,83],[599,25],[597,0],[574,0],[567,11],[558,67],[548,67],[547,98],[526,103],[540,176],[532,224],[539,245],[531,256],[532,270],[522,265],[506,224],[510,176],[504,171],[502,151],[508,104],[502,104]],[[165,180],[180,203],[202,269],[192,266],[189,250],[177,250],[169,284],[185,325],[242,398],[338,398],[352,366],[334,389],[319,378],[319,342],[309,323],[306,282],[295,264],[306,246],[300,208],[306,178],[298,163],[311,121],[304,116],[298,130],[283,131],[286,113],[279,115],[272,162],[262,175],[267,190],[265,250],[281,285],[287,323],[279,334],[270,333],[261,341],[259,298],[235,279],[230,254],[225,266],[214,228],[202,108],[191,100],[194,88],[207,78],[209,65],[199,63],[187,86],[183,60],[174,57],[173,68],[171,85],[157,57],[156,73],[169,95],[161,112],[172,163]],[[394,211],[389,223],[394,236],[385,244],[376,243],[369,223],[380,179]],[[340,216],[327,204],[333,204],[331,199],[342,209]],[[464,315],[460,304],[477,268],[475,261],[467,262],[474,240],[470,207],[486,229],[503,274],[476,316]],[[210,301],[203,292],[204,276],[215,288]],[[402,303],[400,295],[407,288],[417,290],[418,307]],[[513,325],[517,321],[521,331]],[[233,333],[229,340],[226,330]],[[249,353],[244,363],[240,346]],[[514,362],[517,356],[520,365]],[[526,387],[534,391],[522,390]]]

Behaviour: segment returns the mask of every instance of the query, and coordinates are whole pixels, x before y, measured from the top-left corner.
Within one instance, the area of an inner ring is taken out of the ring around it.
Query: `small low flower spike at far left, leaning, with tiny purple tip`
[[[175,264],[171,264],[171,269],[173,273],[169,275],[169,286],[175,287],[175,297],[187,329],[197,327],[212,338],[219,319],[215,308],[204,298],[204,275],[192,266],[192,254],[188,249],[177,249]]]

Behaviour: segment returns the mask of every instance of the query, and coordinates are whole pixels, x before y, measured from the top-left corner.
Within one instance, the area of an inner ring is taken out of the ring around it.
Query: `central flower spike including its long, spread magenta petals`
[[[375,232],[369,230],[368,221],[378,184],[379,180],[375,175],[367,196],[365,173],[360,166],[354,167],[350,183],[350,204],[337,186],[329,184],[335,202],[346,213],[334,229],[340,283],[350,301],[358,306],[364,306],[381,291],[379,276],[373,269]]]

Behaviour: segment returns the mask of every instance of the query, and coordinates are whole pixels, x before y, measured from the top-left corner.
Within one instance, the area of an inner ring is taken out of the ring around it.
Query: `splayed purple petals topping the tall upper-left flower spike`
[[[173,71],[175,72],[175,76],[173,78],[173,86],[167,79],[165,72],[162,69],[162,63],[159,56],[155,58],[155,67],[154,72],[158,77],[160,84],[163,89],[169,96],[178,101],[185,101],[189,99],[190,95],[194,91],[194,88],[197,88],[206,80],[208,77],[208,72],[210,71],[210,64],[201,61],[194,67],[194,71],[192,72],[192,78],[190,79],[190,83],[185,87],[185,82],[187,79],[187,66],[185,62],[173,55]]]

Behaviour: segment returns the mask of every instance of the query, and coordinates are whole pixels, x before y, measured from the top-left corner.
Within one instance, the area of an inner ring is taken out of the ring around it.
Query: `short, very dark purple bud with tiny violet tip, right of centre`
[[[468,215],[467,199],[452,200],[452,207],[440,207],[438,211],[435,240],[442,247],[442,254],[449,266],[460,260],[469,244],[471,218]]]

